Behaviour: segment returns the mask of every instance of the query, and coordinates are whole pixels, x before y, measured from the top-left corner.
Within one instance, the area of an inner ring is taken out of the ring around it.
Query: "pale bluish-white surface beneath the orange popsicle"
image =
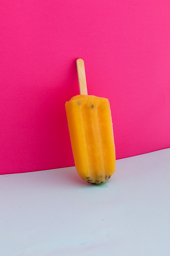
[[[102,185],[75,167],[0,175],[2,256],[169,256],[170,148],[116,160]]]

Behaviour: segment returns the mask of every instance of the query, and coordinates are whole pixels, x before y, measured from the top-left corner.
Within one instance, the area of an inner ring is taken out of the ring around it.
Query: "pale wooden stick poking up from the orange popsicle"
[[[79,78],[80,94],[87,95],[84,61],[82,59],[77,59],[76,63],[77,63],[77,72],[78,72],[78,78]]]

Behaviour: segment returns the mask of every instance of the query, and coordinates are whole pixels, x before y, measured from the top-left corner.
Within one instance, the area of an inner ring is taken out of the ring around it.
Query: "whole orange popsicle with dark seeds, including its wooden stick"
[[[104,183],[115,172],[115,144],[108,99],[87,95],[84,61],[78,59],[80,95],[66,102],[75,168],[88,183]]]

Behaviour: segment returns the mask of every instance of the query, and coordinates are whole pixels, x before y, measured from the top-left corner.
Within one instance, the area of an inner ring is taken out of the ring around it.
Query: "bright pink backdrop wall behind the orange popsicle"
[[[65,102],[109,99],[116,158],[170,147],[169,0],[0,3],[0,174],[74,166]]]

